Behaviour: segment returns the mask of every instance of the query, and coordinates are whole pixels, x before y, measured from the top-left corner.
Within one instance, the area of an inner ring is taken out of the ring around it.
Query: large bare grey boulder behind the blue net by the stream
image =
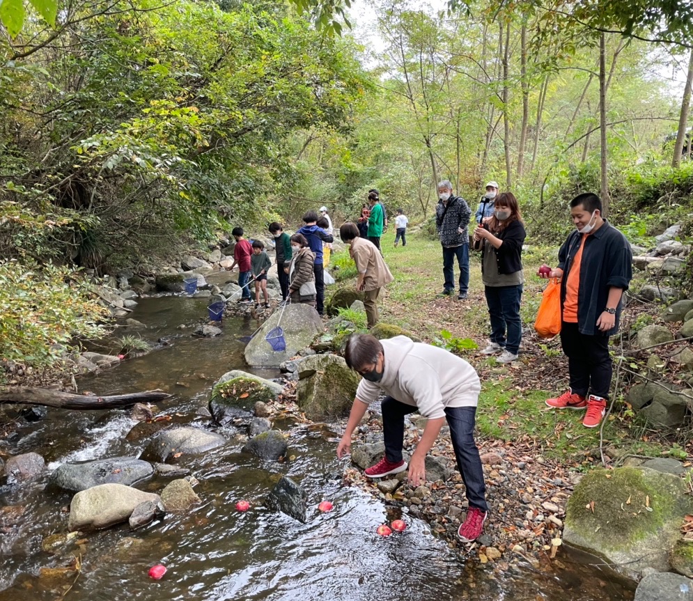
[[[265,336],[277,327],[280,316],[286,348],[283,351],[274,351],[265,340]],[[282,361],[310,345],[313,338],[317,334],[322,334],[322,331],[322,319],[318,311],[308,304],[290,304],[282,311],[274,311],[263,324],[258,334],[246,346],[245,360],[251,366],[279,367]]]

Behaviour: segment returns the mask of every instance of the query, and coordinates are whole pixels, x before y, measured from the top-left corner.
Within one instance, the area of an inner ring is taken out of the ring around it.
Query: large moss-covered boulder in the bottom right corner
[[[683,478],[639,467],[594,469],[568,499],[563,540],[637,579],[645,568],[669,570],[669,552],[692,510]]]

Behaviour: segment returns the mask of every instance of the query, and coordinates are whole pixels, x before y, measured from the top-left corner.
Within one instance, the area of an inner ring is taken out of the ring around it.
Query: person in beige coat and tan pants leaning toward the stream
[[[375,244],[359,236],[356,224],[343,224],[339,228],[339,237],[344,244],[349,244],[349,254],[356,263],[359,272],[356,287],[364,292],[364,306],[370,329],[377,324],[377,297],[380,295],[380,288],[394,278]]]

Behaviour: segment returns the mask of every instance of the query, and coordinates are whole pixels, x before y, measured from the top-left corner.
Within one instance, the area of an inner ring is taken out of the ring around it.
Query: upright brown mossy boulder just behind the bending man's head
[[[297,361],[296,403],[310,420],[348,414],[361,377],[336,354],[315,354]]]

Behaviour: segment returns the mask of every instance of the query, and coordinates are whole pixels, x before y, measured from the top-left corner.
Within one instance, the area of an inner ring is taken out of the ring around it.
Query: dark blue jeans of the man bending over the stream
[[[400,403],[386,396],[382,400],[382,437],[385,444],[385,457],[388,461],[402,460],[404,446],[404,416],[414,413],[416,407]],[[462,474],[462,482],[467,490],[469,506],[488,511],[486,505],[486,485],[483,481],[483,468],[479,450],[474,442],[474,419],[476,407],[446,407],[445,419],[450,426],[450,438],[455,451],[457,467]]]

